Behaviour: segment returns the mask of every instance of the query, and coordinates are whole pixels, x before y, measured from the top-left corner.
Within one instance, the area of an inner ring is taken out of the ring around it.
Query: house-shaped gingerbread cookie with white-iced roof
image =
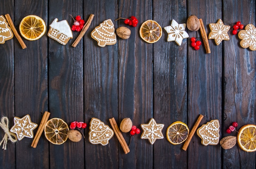
[[[67,20],[61,20],[58,22],[58,19],[55,18],[50,24],[48,36],[60,44],[65,45],[70,39],[73,38],[73,33]]]

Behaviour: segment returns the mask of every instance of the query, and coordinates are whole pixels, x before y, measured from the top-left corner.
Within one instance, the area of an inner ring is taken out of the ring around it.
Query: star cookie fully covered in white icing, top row
[[[175,41],[179,46],[182,44],[182,40],[189,38],[189,34],[186,33],[186,24],[178,24],[174,19],[171,26],[164,27],[168,33],[167,41]]]

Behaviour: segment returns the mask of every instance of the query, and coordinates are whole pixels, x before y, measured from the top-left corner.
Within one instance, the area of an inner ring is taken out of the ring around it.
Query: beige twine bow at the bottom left
[[[16,136],[16,134],[9,131],[9,120],[7,117],[1,118],[0,127],[2,127],[2,129],[4,130],[4,133],[5,133],[4,138],[0,142],[0,145],[2,145],[2,143],[4,143],[2,149],[6,150],[6,145],[7,145],[8,139],[11,140],[11,142],[16,142],[17,136]]]

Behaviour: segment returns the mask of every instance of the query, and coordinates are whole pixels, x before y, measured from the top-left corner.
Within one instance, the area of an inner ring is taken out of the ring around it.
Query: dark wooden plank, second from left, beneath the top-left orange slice
[[[16,29],[22,18],[31,14],[43,18],[47,25],[47,1],[16,0],[14,4]],[[29,114],[31,121],[39,124],[43,116],[41,112],[48,107],[47,36],[36,41],[23,40],[27,49],[22,49],[18,42],[14,48],[15,116],[21,118]],[[31,138],[23,138],[16,143],[16,168],[49,168],[48,142],[41,138],[34,149],[32,141]]]

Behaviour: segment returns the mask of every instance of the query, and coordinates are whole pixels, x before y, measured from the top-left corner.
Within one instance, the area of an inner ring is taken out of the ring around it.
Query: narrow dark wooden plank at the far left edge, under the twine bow
[[[0,5],[0,15],[9,13],[13,19],[13,1],[7,0]],[[13,66],[13,43],[14,38],[0,44],[0,118],[6,116],[9,119],[9,128],[13,125],[14,116],[14,66]],[[4,137],[4,131],[0,128],[0,141]],[[0,163],[3,168],[15,168],[15,145],[7,142],[7,149],[0,146]]]

